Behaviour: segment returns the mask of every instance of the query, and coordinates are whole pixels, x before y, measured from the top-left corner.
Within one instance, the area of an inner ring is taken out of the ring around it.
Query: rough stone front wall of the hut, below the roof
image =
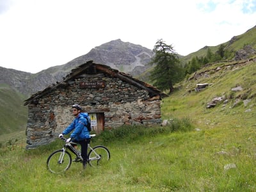
[[[80,88],[81,82],[104,82],[102,88]],[[99,74],[68,81],[29,104],[27,148],[35,148],[55,140],[73,120],[71,106],[80,104],[84,111],[107,111],[105,130],[120,125],[161,124],[159,97],[150,98],[147,90],[118,78]]]

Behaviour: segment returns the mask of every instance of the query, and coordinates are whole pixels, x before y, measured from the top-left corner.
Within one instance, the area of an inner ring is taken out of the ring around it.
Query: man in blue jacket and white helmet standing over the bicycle
[[[79,104],[72,105],[72,113],[75,116],[73,122],[59,135],[59,138],[63,137],[63,134],[68,134],[71,131],[70,138],[67,139],[67,143],[70,141],[79,143],[81,145],[81,156],[83,157],[83,168],[86,168],[87,159],[87,147],[88,141],[90,141],[90,132],[86,125],[88,122],[86,118],[81,114],[82,108]]]

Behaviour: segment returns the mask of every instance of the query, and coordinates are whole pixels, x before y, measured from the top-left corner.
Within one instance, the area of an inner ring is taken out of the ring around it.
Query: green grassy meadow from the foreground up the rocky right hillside
[[[66,174],[49,173],[45,162],[53,150],[61,148],[60,141],[29,151],[24,150],[24,141],[2,147],[0,191],[254,191],[255,65],[225,73],[223,67],[208,78],[184,81],[180,90],[163,100],[164,119],[189,118],[200,131],[143,136],[136,129],[132,136],[120,132],[125,136],[108,141],[99,137],[93,145],[104,144],[111,151],[111,161],[100,168],[83,171],[81,164],[73,163]],[[212,85],[188,93],[196,83]],[[230,89],[237,85],[244,90],[232,93]],[[220,95],[232,99],[225,107],[221,103],[205,108]],[[241,102],[232,108],[241,97],[252,100],[248,106]],[[225,170],[228,164],[236,168]]]

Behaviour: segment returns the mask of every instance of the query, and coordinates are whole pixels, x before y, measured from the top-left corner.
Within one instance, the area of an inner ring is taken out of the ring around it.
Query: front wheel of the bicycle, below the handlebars
[[[47,159],[47,168],[52,173],[62,173],[68,170],[72,163],[69,152],[63,150],[54,151]]]

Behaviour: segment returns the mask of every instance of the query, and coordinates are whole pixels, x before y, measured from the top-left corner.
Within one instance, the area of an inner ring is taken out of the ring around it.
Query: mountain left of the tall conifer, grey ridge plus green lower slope
[[[141,45],[113,40],[93,48],[64,65],[50,67],[36,74],[0,67],[0,134],[25,129],[27,106],[23,101],[31,94],[61,81],[72,68],[93,60],[129,74],[140,74],[147,69],[146,63],[153,52]]]

